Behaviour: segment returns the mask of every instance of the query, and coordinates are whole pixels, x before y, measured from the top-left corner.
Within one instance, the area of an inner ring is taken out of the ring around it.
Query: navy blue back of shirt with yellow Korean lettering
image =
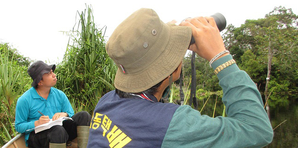
[[[149,100],[120,98],[115,90],[105,94],[94,109],[87,147],[161,147],[179,105],[146,96]]]

